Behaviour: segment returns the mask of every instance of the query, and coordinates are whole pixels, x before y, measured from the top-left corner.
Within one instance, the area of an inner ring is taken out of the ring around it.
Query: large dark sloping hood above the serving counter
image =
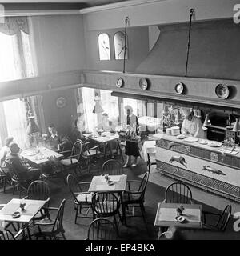
[[[159,30],[158,42],[136,72],[185,76],[189,24],[162,25]],[[239,80],[239,32],[232,19],[194,22],[187,76]]]

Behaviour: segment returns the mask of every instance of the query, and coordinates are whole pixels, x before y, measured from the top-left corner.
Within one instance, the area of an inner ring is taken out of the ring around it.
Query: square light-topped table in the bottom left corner
[[[13,198],[0,210],[0,221],[2,222],[12,222],[22,224],[22,228],[26,227],[28,232],[29,239],[30,236],[30,229],[29,224],[34,218],[38,211],[42,209],[42,206],[46,204],[45,200],[30,200],[24,199],[26,203],[25,210],[21,210],[20,203],[22,199]],[[14,212],[19,212],[20,216],[18,218],[14,218]]]

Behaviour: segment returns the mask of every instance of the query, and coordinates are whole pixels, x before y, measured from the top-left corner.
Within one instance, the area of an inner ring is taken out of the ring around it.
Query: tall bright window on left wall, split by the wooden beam
[[[28,24],[25,17],[6,18],[0,26],[0,82],[34,75]],[[13,136],[19,146],[27,145],[26,104],[19,98],[0,102],[0,146]]]

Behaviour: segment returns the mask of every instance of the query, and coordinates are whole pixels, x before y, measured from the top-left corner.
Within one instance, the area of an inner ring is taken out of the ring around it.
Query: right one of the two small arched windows
[[[124,58],[124,46],[125,46],[125,33],[122,31],[118,31],[114,34],[114,52],[115,59],[123,59]],[[128,58],[128,44],[126,37],[126,55],[125,59]]]

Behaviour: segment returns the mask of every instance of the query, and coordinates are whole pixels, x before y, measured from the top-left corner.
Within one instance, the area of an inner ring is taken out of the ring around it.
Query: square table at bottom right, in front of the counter
[[[177,209],[182,209],[182,221],[178,221]],[[154,226],[158,226],[158,238],[162,228],[175,226],[182,229],[202,229],[202,205],[159,202],[155,216]]]

